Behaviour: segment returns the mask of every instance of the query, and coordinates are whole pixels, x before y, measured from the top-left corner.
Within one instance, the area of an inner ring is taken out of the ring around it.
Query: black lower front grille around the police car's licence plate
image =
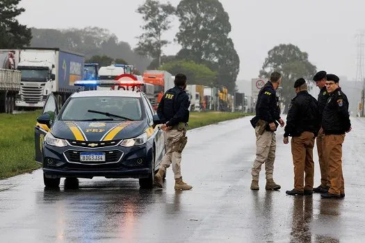
[[[80,161],[80,153],[83,151],[77,150],[67,150],[65,151],[65,156],[69,162],[76,162],[84,165],[92,164],[92,165],[103,165],[106,163],[116,163],[123,156],[123,152],[120,150],[111,150],[111,151],[95,151],[97,153],[105,153],[105,161]],[[87,151],[90,152],[90,151]]]

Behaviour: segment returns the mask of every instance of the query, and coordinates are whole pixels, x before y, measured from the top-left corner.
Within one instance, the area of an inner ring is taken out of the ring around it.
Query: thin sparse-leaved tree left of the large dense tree
[[[168,40],[163,40],[162,35],[171,28],[172,19],[175,14],[175,8],[168,3],[160,3],[156,0],[147,0],[142,6],[139,6],[136,12],[143,15],[145,25],[142,26],[143,33],[138,37],[139,42],[136,51],[143,56],[157,58],[158,66],[161,65],[162,48],[165,47]]]

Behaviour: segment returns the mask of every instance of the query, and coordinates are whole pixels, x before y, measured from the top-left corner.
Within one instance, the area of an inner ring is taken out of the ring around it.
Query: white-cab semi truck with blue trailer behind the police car
[[[20,92],[15,106],[42,108],[49,94],[61,107],[79,89],[74,81],[83,78],[84,56],[59,48],[19,49],[17,69],[22,72]]]

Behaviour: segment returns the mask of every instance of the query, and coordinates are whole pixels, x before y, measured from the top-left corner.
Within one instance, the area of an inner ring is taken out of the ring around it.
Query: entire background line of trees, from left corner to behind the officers
[[[190,83],[236,88],[240,58],[229,37],[232,26],[229,15],[218,0],[181,0],[177,7],[170,2],[147,0],[136,13],[142,15],[143,26],[136,48],[118,40],[105,28],[86,27],[64,30],[29,28],[16,17],[24,12],[21,0],[0,1],[0,47],[59,47],[84,53],[86,61],[110,65],[111,61],[129,63],[140,72],[164,69],[172,74],[185,72]],[[179,31],[174,40],[164,40],[173,19],[179,19]],[[163,48],[175,41],[181,45],[175,55],[165,56]],[[282,100],[293,97],[291,86],[298,77],[309,80],[316,67],[308,54],[293,44],[279,44],[268,51],[259,72],[268,78],[272,71],[283,74]]]

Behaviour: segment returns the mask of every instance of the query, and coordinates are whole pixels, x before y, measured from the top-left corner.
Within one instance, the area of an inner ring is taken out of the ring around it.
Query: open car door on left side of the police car
[[[42,109],[42,115],[43,114],[49,114],[51,120],[49,122],[50,127],[37,122],[34,128],[35,161],[40,163],[42,162],[42,144],[44,142],[44,136],[48,133],[49,129],[51,129],[54,119],[56,119],[58,114],[58,103],[53,94],[49,94],[47,97],[47,101]]]

